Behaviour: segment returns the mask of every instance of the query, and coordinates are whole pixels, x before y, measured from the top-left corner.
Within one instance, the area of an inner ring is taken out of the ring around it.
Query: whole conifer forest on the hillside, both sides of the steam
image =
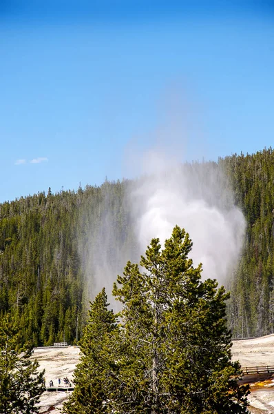
[[[228,284],[229,326],[233,337],[273,333],[274,152],[232,155],[219,159],[219,167],[246,218],[240,262]],[[81,337],[92,295],[87,263],[96,261],[96,255],[86,255],[103,237],[106,217],[114,227],[109,249],[115,250],[113,235],[120,247],[136,247],[125,195],[129,186],[127,180],[105,181],[56,194],[49,188],[47,194],[0,205],[0,313],[12,313],[25,341],[52,345]],[[117,252],[112,253],[107,252],[115,261]]]

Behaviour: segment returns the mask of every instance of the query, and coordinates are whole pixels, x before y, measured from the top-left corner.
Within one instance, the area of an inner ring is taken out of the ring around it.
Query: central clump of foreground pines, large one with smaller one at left
[[[103,290],[91,305],[75,391],[65,413],[248,413],[248,387],[231,362],[224,288],[201,281],[191,240],[176,226],[161,248],[127,263],[114,284],[123,305],[116,324]]]

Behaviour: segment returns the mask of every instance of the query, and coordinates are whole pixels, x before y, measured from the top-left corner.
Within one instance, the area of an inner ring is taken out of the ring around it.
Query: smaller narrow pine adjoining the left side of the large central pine
[[[107,306],[103,288],[90,304],[88,323],[80,343],[81,362],[74,371],[74,393],[63,406],[65,413],[107,413],[105,389],[109,382],[109,367],[112,365],[113,369],[115,365],[114,347],[118,335],[116,317]]]

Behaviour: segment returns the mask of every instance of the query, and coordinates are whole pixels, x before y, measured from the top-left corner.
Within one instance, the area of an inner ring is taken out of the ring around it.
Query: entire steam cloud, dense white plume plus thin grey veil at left
[[[191,134],[174,119],[174,113],[171,110],[172,118],[166,128],[157,131],[156,139],[149,139],[157,141],[156,149],[138,156],[138,148],[130,148],[129,173],[134,170],[139,178],[124,183],[122,197],[109,184],[103,186],[100,211],[94,213],[100,217],[90,228],[88,248],[80,248],[82,255],[85,251],[88,299],[94,299],[105,286],[114,310],[117,305],[112,299],[112,286],[116,276],[123,273],[128,260],[139,262],[152,238],[159,237],[163,246],[176,224],[189,233],[193,241],[190,257],[194,266],[202,263],[204,278],[215,278],[226,285],[242,250],[245,221],[235,206],[229,181],[220,164],[178,161],[174,150],[181,157],[184,151],[180,146],[186,144],[182,137],[191,138]],[[115,217],[112,211],[125,218],[122,232],[121,217]]]

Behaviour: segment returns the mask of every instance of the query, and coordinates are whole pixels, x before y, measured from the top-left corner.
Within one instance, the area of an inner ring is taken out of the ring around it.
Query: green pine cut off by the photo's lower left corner
[[[0,413],[38,413],[39,397],[45,390],[38,362],[30,361],[32,349],[21,345],[10,315],[0,320]]]

